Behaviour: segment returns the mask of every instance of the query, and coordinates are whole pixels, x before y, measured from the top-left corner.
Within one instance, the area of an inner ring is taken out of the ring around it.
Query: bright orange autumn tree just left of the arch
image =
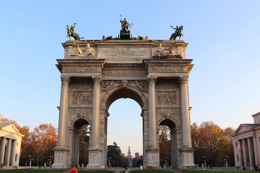
[[[30,133],[30,143],[32,144],[33,154],[39,162],[47,162],[49,156],[54,156],[53,148],[57,145],[56,128],[52,124],[41,124],[34,128]]]

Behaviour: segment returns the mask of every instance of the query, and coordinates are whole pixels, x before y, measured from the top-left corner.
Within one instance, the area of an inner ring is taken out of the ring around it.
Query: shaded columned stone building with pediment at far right
[[[260,164],[260,112],[252,115],[254,124],[240,124],[233,137],[235,164],[238,169],[254,170]]]

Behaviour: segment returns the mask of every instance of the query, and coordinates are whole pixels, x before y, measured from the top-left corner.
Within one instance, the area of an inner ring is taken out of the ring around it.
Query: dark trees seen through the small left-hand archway
[[[89,148],[89,125],[84,125],[79,130],[79,165],[88,164],[88,148]]]

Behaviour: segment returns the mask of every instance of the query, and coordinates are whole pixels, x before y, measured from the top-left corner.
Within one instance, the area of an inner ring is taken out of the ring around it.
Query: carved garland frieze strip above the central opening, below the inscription
[[[103,70],[102,75],[109,76],[144,76],[147,75],[146,70]]]

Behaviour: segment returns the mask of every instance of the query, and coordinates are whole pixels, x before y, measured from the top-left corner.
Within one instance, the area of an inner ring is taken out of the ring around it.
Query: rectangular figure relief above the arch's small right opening
[[[176,104],[176,92],[157,92],[158,105]]]

